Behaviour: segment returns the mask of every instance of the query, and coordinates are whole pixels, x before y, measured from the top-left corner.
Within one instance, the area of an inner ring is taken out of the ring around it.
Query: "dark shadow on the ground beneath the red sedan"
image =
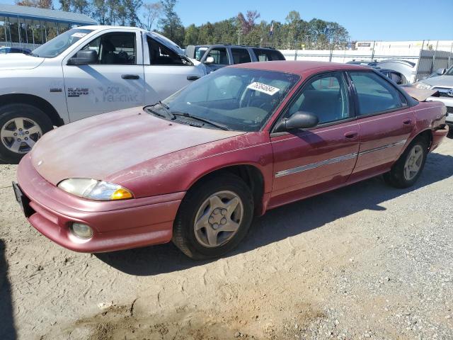
[[[386,208],[381,206],[382,203],[442,181],[452,175],[452,156],[430,154],[423,174],[411,188],[392,188],[384,183],[382,176],[379,176],[275,208],[268,211],[263,217],[256,219],[247,237],[238,248],[224,257],[241,254],[287,237],[308,232],[362,210],[386,213]],[[96,256],[118,271],[136,276],[154,276],[159,273],[181,271],[210,262],[188,259],[171,243],[96,254]]]

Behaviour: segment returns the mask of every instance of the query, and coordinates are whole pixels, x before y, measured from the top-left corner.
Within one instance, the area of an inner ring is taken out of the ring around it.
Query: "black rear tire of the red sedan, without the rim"
[[[420,163],[420,169],[418,173],[411,179],[407,179],[404,175],[404,169],[408,157],[414,148],[421,148],[423,159]],[[408,188],[418,180],[418,177],[422,174],[423,168],[425,167],[426,156],[428,155],[428,142],[423,137],[418,137],[404,150],[403,154],[398,158],[395,164],[391,167],[391,170],[384,174],[384,180],[390,186],[395,188]]]

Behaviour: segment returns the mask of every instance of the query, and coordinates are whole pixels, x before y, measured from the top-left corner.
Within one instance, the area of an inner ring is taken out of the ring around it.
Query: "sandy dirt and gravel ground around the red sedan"
[[[217,261],[77,254],[28,225],[0,165],[0,339],[453,339],[453,140],[418,183],[271,210]]]

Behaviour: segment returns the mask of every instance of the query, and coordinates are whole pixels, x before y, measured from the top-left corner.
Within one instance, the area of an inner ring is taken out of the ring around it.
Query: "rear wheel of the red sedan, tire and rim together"
[[[419,137],[404,150],[391,170],[384,174],[384,180],[396,188],[412,186],[423,171],[427,154],[428,145]]]

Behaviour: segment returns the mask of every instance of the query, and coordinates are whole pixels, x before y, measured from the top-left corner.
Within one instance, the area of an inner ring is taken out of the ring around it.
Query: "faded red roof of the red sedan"
[[[236,64],[229,67],[239,69],[263,69],[265,71],[278,71],[302,75],[306,72],[315,73],[323,69],[326,71],[369,71],[369,67],[356,64],[340,64],[338,62],[309,62],[294,60],[275,60],[272,62],[248,62],[246,64]]]

